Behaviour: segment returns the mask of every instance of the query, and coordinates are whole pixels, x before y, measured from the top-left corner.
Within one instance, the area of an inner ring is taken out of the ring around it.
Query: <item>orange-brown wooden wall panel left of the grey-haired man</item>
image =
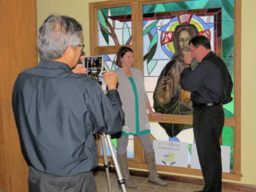
[[[22,70],[36,65],[36,1],[1,0],[0,26],[0,189],[23,192],[28,166],[13,117],[12,88]]]

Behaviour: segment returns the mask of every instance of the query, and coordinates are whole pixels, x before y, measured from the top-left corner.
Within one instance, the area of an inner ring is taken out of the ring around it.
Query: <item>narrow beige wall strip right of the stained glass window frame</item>
[[[241,161],[242,161],[242,173],[243,178],[241,182],[245,184],[256,185],[255,173],[256,173],[256,155],[255,155],[255,108],[256,102],[253,96],[256,94],[255,90],[255,45],[256,40],[253,38],[253,31],[256,31],[256,26],[252,20],[253,12],[255,12],[256,1],[242,0],[242,110],[241,110]]]

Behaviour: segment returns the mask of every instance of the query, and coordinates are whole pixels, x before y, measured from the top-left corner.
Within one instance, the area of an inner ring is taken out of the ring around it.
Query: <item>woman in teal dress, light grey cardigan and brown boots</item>
[[[127,145],[129,135],[136,135],[144,148],[145,159],[148,165],[148,181],[161,186],[168,184],[159,178],[156,171],[156,159],[152,140],[150,138],[150,124],[148,112],[154,118],[160,118],[161,113],[154,113],[150,107],[147,93],[145,92],[143,77],[140,70],[131,68],[133,63],[133,51],[129,47],[121,47],[117,52],[116,64],[119,68],[114,70],[118,74],[118,87],[122,100],[122,109],[125,113],[122,135],[117,141],[117,158],[122,175],[127,187],[136,188],[131,180],[127,164]]]

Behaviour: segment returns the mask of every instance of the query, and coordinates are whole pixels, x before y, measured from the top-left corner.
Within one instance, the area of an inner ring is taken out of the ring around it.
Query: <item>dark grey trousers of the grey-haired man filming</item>
[[[61,177],[39,172],[29,166],[29,192],[95,192],[97,191],[92,172]]]

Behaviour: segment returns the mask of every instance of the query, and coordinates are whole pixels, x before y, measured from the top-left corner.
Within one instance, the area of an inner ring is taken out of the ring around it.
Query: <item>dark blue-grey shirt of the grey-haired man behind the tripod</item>
[[[74,74],[65,63],[42,60],[19,74],[13,113],[22,153],[36,170],[69,176],[97,166],[96,132],[120,131],[124,113],[116,90]]]

